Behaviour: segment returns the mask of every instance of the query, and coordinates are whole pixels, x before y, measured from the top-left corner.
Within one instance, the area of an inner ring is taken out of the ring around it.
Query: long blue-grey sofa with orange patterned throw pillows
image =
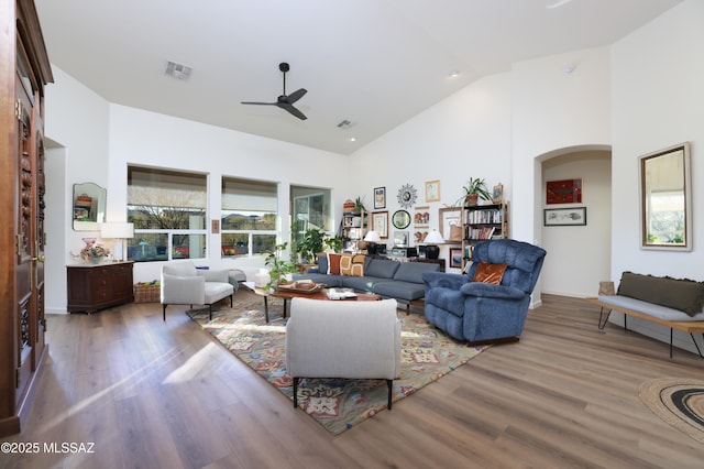
[[[328,258],[318,257],[318,268],[306,274],[294,275],[294,280],[311,280],[324,283],[330,287],[352,288],[359,293],[374,293],[383,298],[394,298],[410,308],[410,302],[422,298],[426,287],[422,282],[425,272],[439,272],[439,263],[399,262],[388,259],[366,257],[364,259],[364,275],[328,274]]]

